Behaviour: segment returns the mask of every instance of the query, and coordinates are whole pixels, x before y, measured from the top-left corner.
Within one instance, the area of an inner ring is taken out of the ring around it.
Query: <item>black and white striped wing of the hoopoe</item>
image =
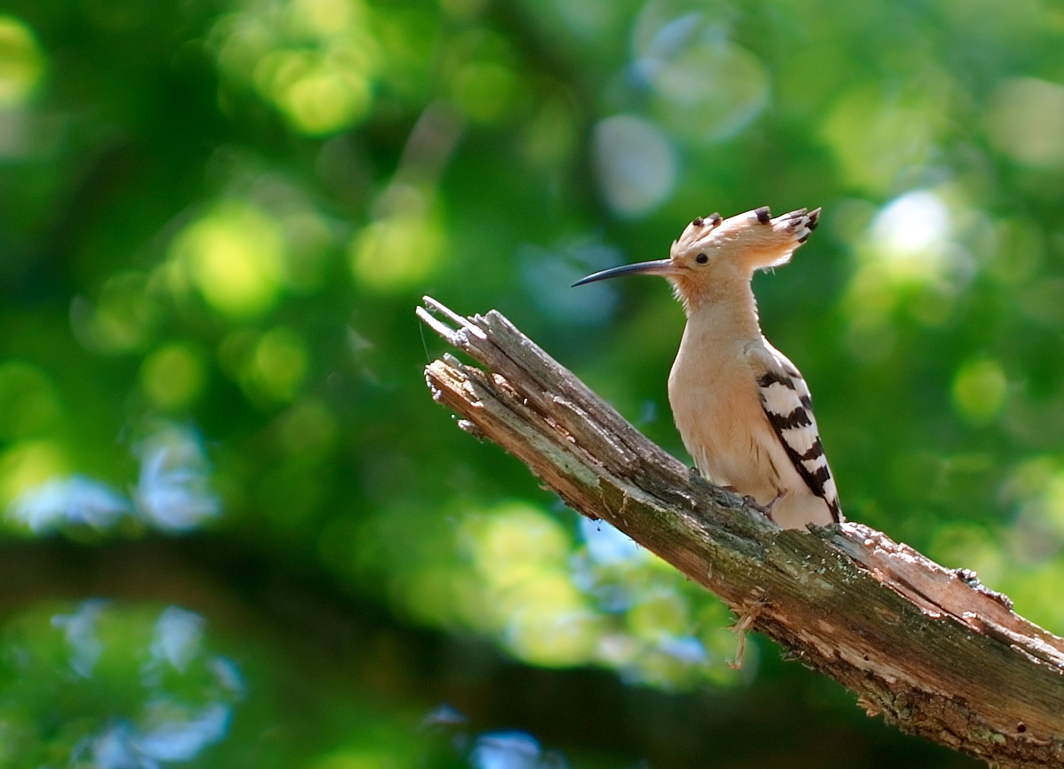
[[[838,491],[820,445],[809,386],[783,353],[767,341],[764,344],[765,350],[758,350],[760,354],[752,356],[761,364],[759,369],[764,369],[758,377],[762,408],[798,474],[810,490],[827,503],[832,519],[837,522],[842,519]]]

